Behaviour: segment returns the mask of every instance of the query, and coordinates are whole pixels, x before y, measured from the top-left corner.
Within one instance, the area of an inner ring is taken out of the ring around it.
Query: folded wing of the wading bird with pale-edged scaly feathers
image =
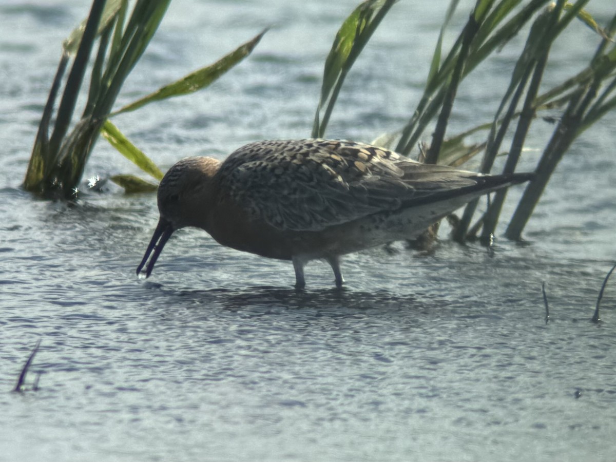
[[[339,140],[249,144],[230,155],[218,174],[221,191],[249,216],[277,229],[308,231],[425,203],[477,182],[472,172]]]

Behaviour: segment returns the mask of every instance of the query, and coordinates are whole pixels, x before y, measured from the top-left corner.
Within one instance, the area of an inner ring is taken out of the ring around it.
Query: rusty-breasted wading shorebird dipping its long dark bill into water
[[[152,254],[148,277],[171,234],[193,226],[222,245],[291,260],[297,288],[304,265],[325,259],[340,287],[341,255],[415,238],[472,199],[531,177],[422,164],[340,140],[255,142],[222,163],[185,158],[160,182],[160,220],[137,275]]]

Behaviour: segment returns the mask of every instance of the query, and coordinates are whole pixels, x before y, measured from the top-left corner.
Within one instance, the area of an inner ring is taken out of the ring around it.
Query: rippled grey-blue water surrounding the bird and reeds
[[[174,2],[120,103],[274,26],[211,89],[116,123],[165,167],[305,137],[323,59],[354,4]],[[86,10],[0,6],[15,28],[0,38],[1,461],[614,460],[613,285],[605,322],[590,322],[615,258],[614,116],[562,161],[527,245],[487,251],[444,232],[430,254],[394,245],[348,256],[343,291],[314,262],[297,293],[290,263],[184,230],[138,280],[152,195],[107,185],[66,204],[19,188],[60,41]],[[443,15],[437,2],[395,6],[349,76],[330,136],[369,141],[404,123]],[[553,52],[553,78],[594,43],[575,28]],[[461,89],[456,127],[489,118],[509,53]],[[537,124],[528,169],[552,129]],[[101,141],[86,176],[118,172],[135,170]],[[38,339],[27,383],[40,374],[38,391],[10,393]]]

